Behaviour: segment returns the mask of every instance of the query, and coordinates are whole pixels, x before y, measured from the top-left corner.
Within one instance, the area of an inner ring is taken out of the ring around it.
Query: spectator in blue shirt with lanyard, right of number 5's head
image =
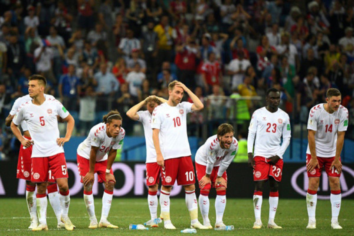
[[[75,75],[75,65],[69,64],[68,73],[62,75],[58,83],[58,94],[66,109],[76,110],[74,100],[78,97],[79,90],[80,81]]]

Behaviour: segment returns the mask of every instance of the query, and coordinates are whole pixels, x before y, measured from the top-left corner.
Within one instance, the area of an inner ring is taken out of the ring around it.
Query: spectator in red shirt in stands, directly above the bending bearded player
[[[208,61],[203,63],[201,67],[201,77],[206,91],[210,91],[213,85],[221,84],[221,64],[216,61],[216,55],[214,52],[210,52],[208,55]]]

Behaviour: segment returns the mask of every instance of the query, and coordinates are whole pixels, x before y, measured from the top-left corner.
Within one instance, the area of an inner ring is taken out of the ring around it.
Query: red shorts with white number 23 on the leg
[[[276,181],[281,181],[281,174],[283,171],[284,161],[279,159],[275,165],[268,163],[269,159],[263,156],[255,156],[255,169],[253,170],[253,180],[267,180],[269,176],[272,176]]]

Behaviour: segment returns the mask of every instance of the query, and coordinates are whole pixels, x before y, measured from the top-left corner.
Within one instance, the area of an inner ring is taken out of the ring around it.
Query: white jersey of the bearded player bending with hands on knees
[[[230,148],[223,149],[220,146],[218,136],[213,135],[208,138],[206,142],[201,145],[198,151],[196,152],[195,163],[207,166],[207,174],[211,174],[212,167],[220,166],[219,169],[221,169],[221,174],[218,175],[221,176],[224,171],[229,167],[230,163],[234,160],[238,148],[239,147],[236,138],[233,138]]]

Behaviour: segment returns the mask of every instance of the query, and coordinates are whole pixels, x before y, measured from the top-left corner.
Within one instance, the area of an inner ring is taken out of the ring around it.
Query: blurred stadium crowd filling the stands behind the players
[[[46,93],[79,121],[80,135],[111,108],[131,134],[126,111],[150,94],[167,98],[173,80],[208,96],[213,119],[233,118],[226,114],[234,103],[221,96],[264,97],[278,88],[293,123],[306,123],[336,87],[353,122],[353,7],[351,0],[1,1],[0,125],[32,74],[47,78]],[[258,107],[240,101],[237,118],[249,120]]]

